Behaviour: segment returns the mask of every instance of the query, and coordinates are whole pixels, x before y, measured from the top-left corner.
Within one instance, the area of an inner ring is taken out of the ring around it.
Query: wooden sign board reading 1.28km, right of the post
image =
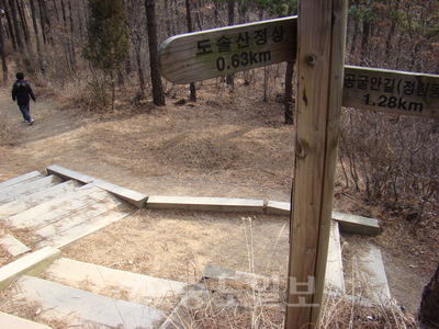
[[[439,118],[439,76],[346,66],[342,105]]]

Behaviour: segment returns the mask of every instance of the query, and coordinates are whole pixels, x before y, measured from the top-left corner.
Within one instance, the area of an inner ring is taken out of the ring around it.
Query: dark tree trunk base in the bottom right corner
[[[435,275],[429,284],[426,285],[423,293],[423,300],[418,319],[421,324],[438,328],[439,326],[439,264]]]

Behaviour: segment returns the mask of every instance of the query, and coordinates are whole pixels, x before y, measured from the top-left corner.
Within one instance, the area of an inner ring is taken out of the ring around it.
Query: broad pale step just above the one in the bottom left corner
[[[38,305],[40,317],[63,319],[75,328],[155,328],[161,311],[136,303],[113,299],[55,282],[22,275],[11,286],[16,309]],[[106,326],[106,327],[105,327]]]

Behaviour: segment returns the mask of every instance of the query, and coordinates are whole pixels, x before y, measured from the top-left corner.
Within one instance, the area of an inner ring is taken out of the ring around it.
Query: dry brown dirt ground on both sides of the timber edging
[[[36,89],[32,126],[23,123],[10,90],[2,89],[0,114],[18,136],[0,146],[0,182],[59,164],[147,195],[289,202],[294,126],[283,124],[282,104],[263,102],[256,87],[237,81],[230,92],[218,81],[199,84],[194,103],[180,101],[189,91],[173,87],[166,106],[134,105],[121,95],[115,110],[105,113],[67,109]],[[344,246],[378,243],[393,297],[416,313],[438,262],[437,231],[392,218],[342,186],[338,180],[335,211],[378,218],[383,227],[373,238],[344,235]],[[250,259],[256,273],[286,277],[289,218],[243,216],[143,209],[63,253],[179,281],[200,275],[207,263],[248,272]]]

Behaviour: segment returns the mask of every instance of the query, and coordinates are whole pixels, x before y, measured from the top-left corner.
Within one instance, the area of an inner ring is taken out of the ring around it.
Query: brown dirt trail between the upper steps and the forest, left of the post
[[[282,138],[292,140],[290,127],[255,127],[250,121],[243,129],[227,110],[222,113],[222,124],[213,122],[212,114],[194,122],[199,109],[172,105],[151,114],[100,121],[38,100],[31,103],[35,124],[29,126],[9,91],[0,92],[0,103],[22,133],[15,147],[0,148],[0,180],[56,163],[149,195],[290,198],[291,168],[272,170],[271,164],[277,164],[262,152],[274,150],[277,158],[291,158],[292,152],[282,152],[282,144],[273,144]],[[203,128],[202,135],[194,137],[198,127]],[[255,135],[260,136],[256,144],[250,140]],[[262,140],[267,135],[271,137]],[[246,149],[236,147],[237,143]],[[281,177],[277,172],[282,172]]]

